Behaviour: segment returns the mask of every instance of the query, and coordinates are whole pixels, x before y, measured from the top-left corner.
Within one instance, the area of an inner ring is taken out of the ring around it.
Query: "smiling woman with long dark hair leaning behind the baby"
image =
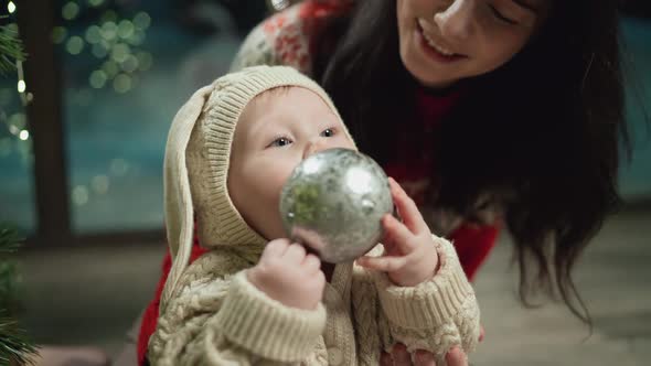
[[[556,289],[589,322],[570,270],[619,202],[620,132],[628,146],[616,3],[307,0],[256,28],[234,68],[312,76],[469,278],[505,226],[523,302]]]

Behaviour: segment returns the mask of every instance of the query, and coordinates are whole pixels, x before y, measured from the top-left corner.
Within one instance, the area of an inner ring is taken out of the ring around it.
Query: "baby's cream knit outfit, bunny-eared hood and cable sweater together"
[[[444,365],[455,345],[472,352],[479,308],[452,245],[442,238],[434,240],[440,268],[429,281],[403,288],[385,273],[340,263],[313,311],[286,306],[247,280],[267,240],[228,196],[231,143],[248,101],[279,86],[308,88],[338,115],[326,93],[295,69],[256,66],[198,90],[174,117],[164,163],[173,265],[149,343],[150,363],[378,365],[382,349],[403,343],[408,351],[433,352]],[[211,250],[188,266],[194,219]],[[372,255],[382,251],[378,245]]]

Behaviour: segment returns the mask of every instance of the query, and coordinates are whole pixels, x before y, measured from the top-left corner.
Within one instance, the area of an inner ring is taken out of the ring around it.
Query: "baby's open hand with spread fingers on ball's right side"
[[[429,280],[436,272],[438,255],[429,227],[414,201],[393,179],[388,179],[391,194],[403,223],[392,215],[382,218],[384,256],[364,256],[357,265],[387,272],[397,286],[412,287]]]

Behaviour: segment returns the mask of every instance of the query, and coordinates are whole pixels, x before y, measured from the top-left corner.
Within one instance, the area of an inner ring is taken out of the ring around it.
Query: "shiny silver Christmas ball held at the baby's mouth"
[[[381,218],[392,212],[382,168],[348,149],[303,160],[280,195],[287,235],[331,263],[354,260],[373,248],[383,235]]]

